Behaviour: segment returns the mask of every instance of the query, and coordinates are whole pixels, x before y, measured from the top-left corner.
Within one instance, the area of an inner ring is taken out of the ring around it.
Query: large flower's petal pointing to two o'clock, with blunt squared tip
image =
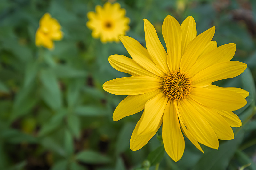
[[[224,61],[230,61],[236,51],[236,44],[225,44],[199,57],[188,74],[194,76],[205,68]]]

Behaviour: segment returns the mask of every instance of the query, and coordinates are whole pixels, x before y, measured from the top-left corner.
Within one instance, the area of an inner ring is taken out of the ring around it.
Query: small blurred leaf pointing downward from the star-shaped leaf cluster
[[[70,131],[76,137],[80,137],[80,119],[77,115],[68,114],[67,116],[67,123]]]

